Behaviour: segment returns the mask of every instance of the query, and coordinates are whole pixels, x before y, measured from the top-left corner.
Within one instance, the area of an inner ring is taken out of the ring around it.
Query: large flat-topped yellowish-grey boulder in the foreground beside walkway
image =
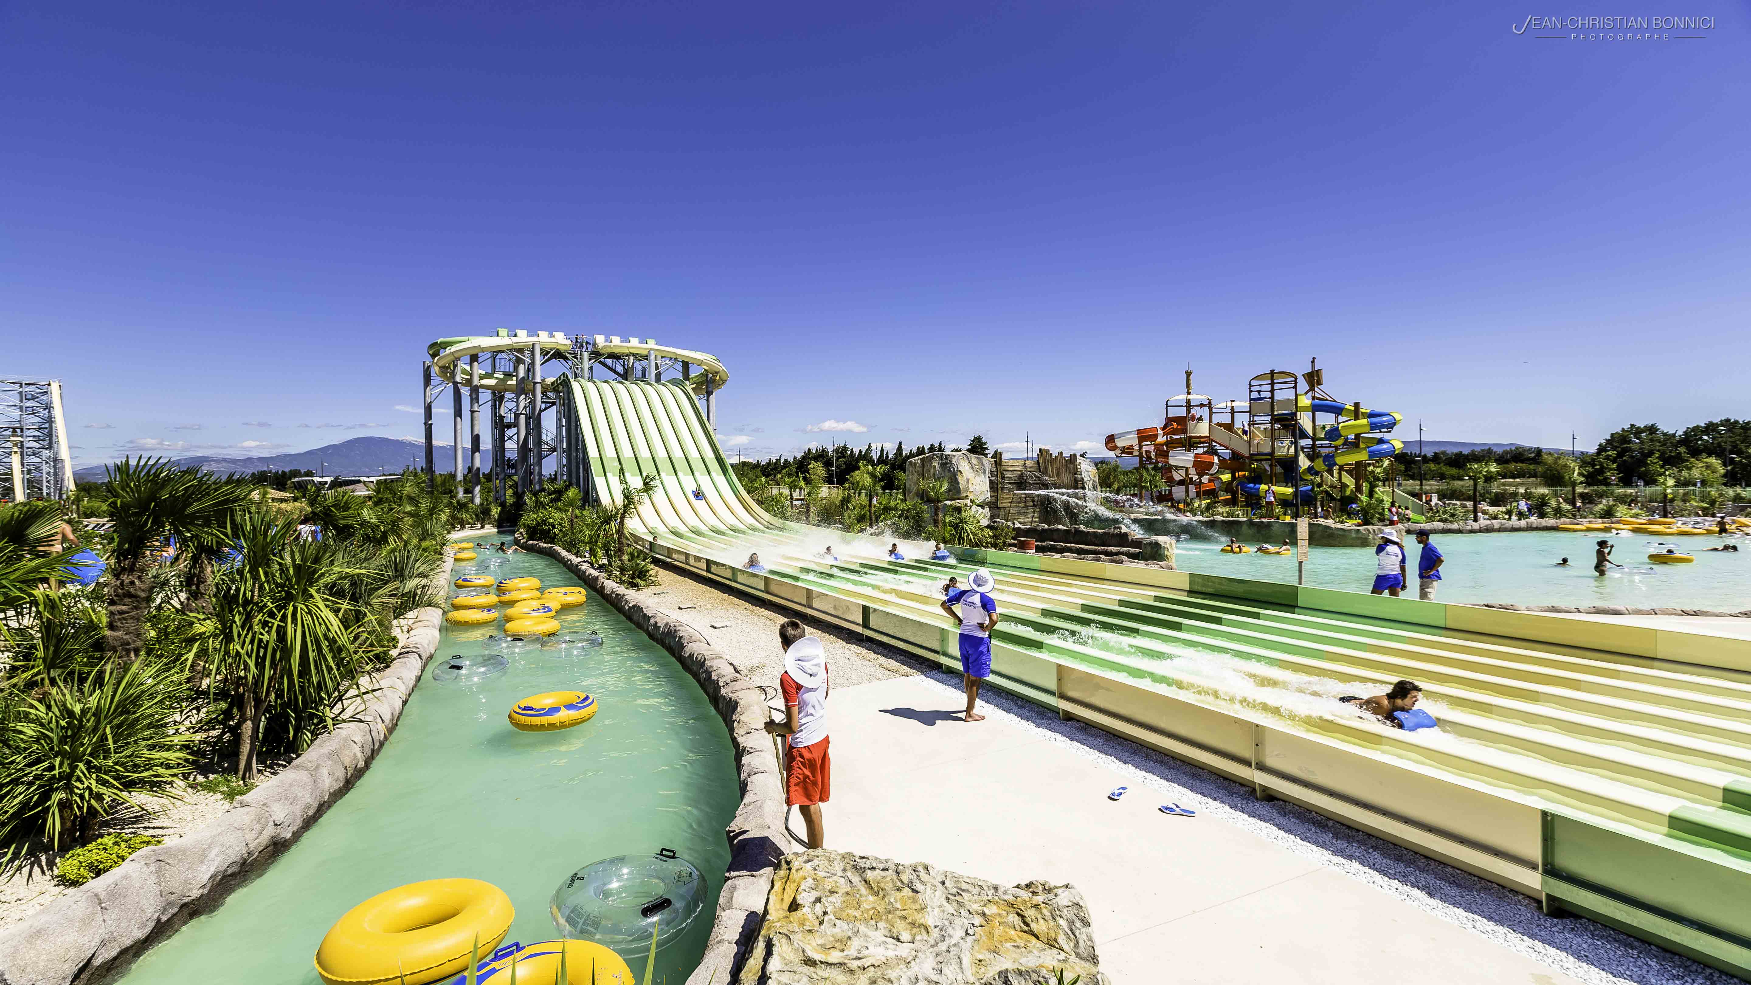
[[[741,985],[1108,985],[1082,894],[925,862],[784,855]]]

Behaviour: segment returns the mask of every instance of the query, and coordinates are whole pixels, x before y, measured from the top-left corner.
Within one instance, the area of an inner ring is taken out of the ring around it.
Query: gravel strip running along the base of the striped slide
[[[704,633],[755,684],[777,685],[777,624],[788,610],[725,591],[692,573],[657,568],[662,584],[639,594]],[[667,594],[664,594],[667,592]],[[692,608],[681,608],[692,606]],[[942,685],[946,701],[960,701],[960,675],[856,633],[804,620],[826,641],[833,684],[849,687],[900,675],[925,675]],[[728,624],[714,629],[713,624]],[[1107,768],[1128,773],[1133,785],[1168,794],[1164,799],[1199,808],[1283,848],[1390,892],[1450,924],[1509,950],[1543,960],[1592,985],[1735,985],[1737,978],[1697,964],[1581,917],[1555,918],[1532,899],[1471,873],[1436,862],[1390,841],[1285,801],[1255,801],[1243,787],[1215,773],[1107,734],[1082,722],[996,689],[981,692],[981,712],[1003,715],[1019,727],[1063,743]],[[1382,941],[1390,946],[1390,941]]]

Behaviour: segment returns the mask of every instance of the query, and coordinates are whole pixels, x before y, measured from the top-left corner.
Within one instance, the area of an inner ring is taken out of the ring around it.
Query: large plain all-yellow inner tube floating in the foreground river
[[[511,897],[490,882],[425,880],[348,910],[322,936],[317,974],[327,985],[425,985],[468,971],[511,929]],[[567,971],[571,953],[567,952]]]

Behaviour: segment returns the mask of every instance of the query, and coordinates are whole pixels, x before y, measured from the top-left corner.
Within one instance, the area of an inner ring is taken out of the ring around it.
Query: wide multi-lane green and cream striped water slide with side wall
[[[634,526],[678,566],[946,668],[940,584],[991,568],[995,685],[1751,978],[1751,641],[1003,550],[826,561],[847,535],[767,515],[688,384],[564,386],[592,494],[655,475]],[[1333,699],[1399,678],[1439,731]]]

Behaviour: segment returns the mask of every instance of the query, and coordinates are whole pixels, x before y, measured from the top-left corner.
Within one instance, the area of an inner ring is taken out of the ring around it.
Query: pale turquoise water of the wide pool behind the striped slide
[[[1410,528],[1408,528],[1410,529]],[[1609,538],[1613,561],[1600,578],[1593,575],[1593,542]],[[1406,535],[1411,578],[1418,545]],[[1751,536],[1667,536],[1599,531],[1515,531],[1436,536],[1446,556],[1441,566],[1438,601],[1508,601],[1518,605],[1623,605],[1641,608],[1712,608],[1739,612],[1751,608]],[[1672,543],[1695,556],[1690,564],[1653,564],[1648,554],[1660,543]],[[1705,550],[1723,543],[1739,545],[1737,554]],[[1269,582],[1294,582],[1294,556],[1222,554],[1220,542],[1178,542],[1175,564],[1182,571],[1233,575]],[[1257,547],[1254,543],[1252,547]],[[1557,561],[1567,557],[1569,566]],[[1306,584],[1324,589],[1366,592],[1375,580],[1371,547],[1308,549]],[[1415,582],[1408,594],[1417,594]]]

